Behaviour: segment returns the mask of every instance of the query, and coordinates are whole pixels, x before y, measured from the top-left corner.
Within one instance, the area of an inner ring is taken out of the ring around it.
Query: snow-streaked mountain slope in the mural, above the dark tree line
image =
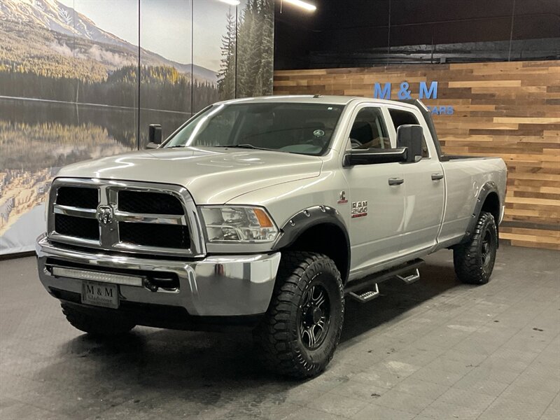
[[[85,71],[94,79],[102,76],[102,68],[111,71],[138,63],[137,45],[97,27],[57,0],[0,0],[0,39],[6,40],[0,45],[0,63],[6,65],[9,60],[25,71],[41,68],[36,66],[37,57],[52,59],[52,70],[63,76]],[[18,48],[22,41],[25,45]],[[174,62],[144,48],[140,55],[145,66],[169,66],[189,75],[193,71],[200,83],[217,82],[217,71]],[[89,62],[90,71],[79,60]]]

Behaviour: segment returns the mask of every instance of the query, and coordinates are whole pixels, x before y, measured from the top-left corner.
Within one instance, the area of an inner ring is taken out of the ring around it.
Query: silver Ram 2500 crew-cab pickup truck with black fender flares
[[[419,279],[454,251],[489,281],[503,216],[500,158],[444,155],[421,102],[236,99],[145,151],[65,167],[52,182],[38,273],[93,335],[251,328],[268,367],[328,365],[344,298]]]

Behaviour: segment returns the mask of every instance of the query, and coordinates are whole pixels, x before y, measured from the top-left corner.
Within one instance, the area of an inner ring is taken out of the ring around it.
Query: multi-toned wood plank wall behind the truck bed
[[[428,106],[453,106],[434,116],[449,154],[500,156],[507,163],[506,212],[500,238],[517,246],[560,249],[560,61],[492,62],[274,72],[274,94],[372,97],[391,82],[398,99],[407,81],[437,80]]]

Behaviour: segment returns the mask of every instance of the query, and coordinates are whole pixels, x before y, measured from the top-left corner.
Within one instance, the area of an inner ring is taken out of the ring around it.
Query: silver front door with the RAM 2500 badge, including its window
[[[360,104],[346,136],[349,148],[391,148],[384,112],[379,106]],[[394,144],[393,144],[394,146]],[[402,165],[398,162],[344,167],[349,184],[352,267],[358,272],[377,262],[396,258],[404,213]],[[396,182],[395,182],[396,181]],[[390,185],[393,184],[393,185]]]

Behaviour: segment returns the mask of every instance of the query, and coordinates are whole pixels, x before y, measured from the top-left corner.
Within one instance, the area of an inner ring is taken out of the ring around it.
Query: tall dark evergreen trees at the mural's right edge
[[[272,94],[273,20],[272,0],[248,0],[237,23],[236,44],[228,18],[228,35],[222,39],[221,70],[218,74],[221,94],[228,92],[225,86],[231,86],[228,85],[231,80],[235,80],[236,97]]]

